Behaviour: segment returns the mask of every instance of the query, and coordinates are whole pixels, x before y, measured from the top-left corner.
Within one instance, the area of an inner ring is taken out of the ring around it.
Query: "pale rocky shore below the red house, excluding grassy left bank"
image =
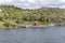
[[[18,28],[27,28],[27,27],[54,27],[54,26],[63,26],[65,24],[49,24],[49,25],[39,25],[39,26],[34,26],[34,25],[21,25]]]

